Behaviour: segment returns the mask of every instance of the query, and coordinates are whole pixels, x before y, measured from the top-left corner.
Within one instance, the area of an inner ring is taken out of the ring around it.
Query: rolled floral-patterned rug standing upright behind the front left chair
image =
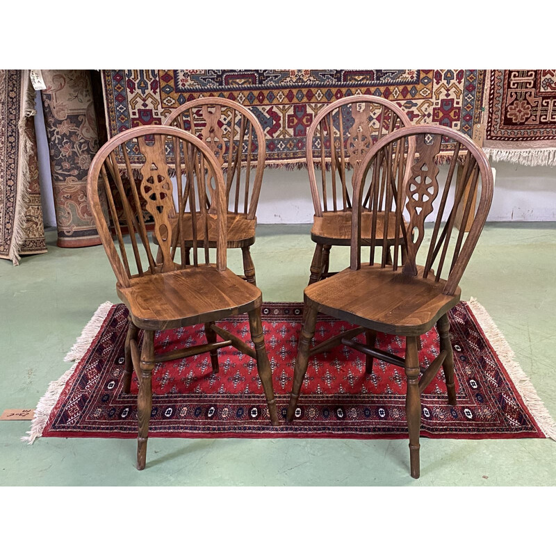
[[[44,123],[58,247],[101,243],[87,201],[87,174],[99,149],[97,117],[89,70],[43,70]]]

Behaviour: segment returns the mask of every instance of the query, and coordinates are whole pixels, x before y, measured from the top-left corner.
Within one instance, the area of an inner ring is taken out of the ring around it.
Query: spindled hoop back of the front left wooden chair
[[[129,152],[144,158],[135,174]],[[124,165],[117,164],[120,157]],[[128,188],[122,174],[129,180]],[[199,243],[204,243],[204,263],[210,263],[209,227],[216,227],[216,267],[226,269],[226,184],[222,167],[206,143],[193,134],[159,125],[118,133],[97,152],[87,188],[99,236],[120,286],[129,287],[131,279],[145,274],[202,264],[197,253]],[[108,213],[102,211],[99,189],[108,200]],[[121,207],[120,213],[117,207]],[[160,249],[158,259],[153,256],[146,218],[152,220],[152,234]],[[126,250],[122,224],[129,231],[132,256]],[[191,263],[186,261],[186,237],[193,238]],[[176,261],[178,247],[180,258]]]

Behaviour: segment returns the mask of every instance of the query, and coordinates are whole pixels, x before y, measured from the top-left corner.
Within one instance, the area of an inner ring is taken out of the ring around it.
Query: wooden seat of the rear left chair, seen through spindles
[[[204,218],[201,213],[196,213],[197,219],[197,245],[204,247]],[[183,239],[186,247],[193,247],[193,224],[191,213],[183,215]],[[174,226],[177,227],[177,218]],[[227,247],[248,247],[255,243],[256,218],[247,220],[247,215],[228,213],[227,215]],[[213,215],[208,216],[208,247],[216,247],[216,220]]]

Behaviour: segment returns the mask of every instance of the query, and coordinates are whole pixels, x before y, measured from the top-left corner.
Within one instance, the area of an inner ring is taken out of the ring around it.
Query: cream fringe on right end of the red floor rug
[[[506,338],[492,320],[492,317],[475,297],[471,297],[471,300],[469,300],[467,304],[471,311],[473,311],[473,315],[477,319],[477,322],[479,322],[486,338],[489,340],[493,350],[502,362],[502,365],[507,370],[512,382],[514,382],[525,405],[528,407],[534,420],[537,421],[539,428],[547,438],[556,441],[556,421],[548,413],[548,409],[546,409],[541,398],[539,398],[530,378],[525,375],[525,372],[515,360],[516,355],[514,354],[514,350],[509,346]]]

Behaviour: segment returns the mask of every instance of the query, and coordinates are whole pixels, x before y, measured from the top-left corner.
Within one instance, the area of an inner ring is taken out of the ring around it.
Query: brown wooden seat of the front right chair
[[[346,268],[307,286],[305,302],[317,305],[322,313],[378,332],[419,336],[459,302],[461,289],[445,295],[445,280],[436,282],[432,274],[424,279],[423,267],[417,269],[417,276],[408,276],[391,266]]]

